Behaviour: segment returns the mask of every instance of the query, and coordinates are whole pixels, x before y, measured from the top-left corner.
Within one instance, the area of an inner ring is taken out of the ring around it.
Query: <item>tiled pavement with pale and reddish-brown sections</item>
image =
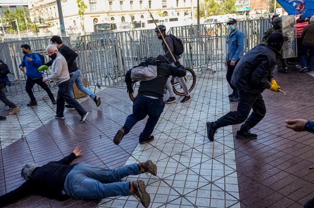
[[[55,106],[46,98],[38,106],[26,107],[27,95],[18,100],[21,112],[0,122],[0,194],[22,182],[21,167],[27,163],[44,164],[73,151],[83,149],[75,162],[116,168],[124,164],[152,159],[157,162],[157,177],[130,176],[124,180],[144,180],[151,194],[151,207],[299,207],[314,197],[314,135],[284,127],[286,118],[313,119],[314,78],[298,74],[275,78],[286,96],[265,90],[265,118],[252,129],[257,140],[234,138],[238,126],[219,129],[215,141],[205,137],[205,123],[221,117],[236,103],[228,100],[224,72],[197,73],[192,101],[166,105],[151,144],[138,145],[145,121],[139,122],[119,146],[112,142],[115,132],[131,113],[131,101],[125,89],[106,88],[97,93],[103,104],[82,99],[90,111],[87,121],[78,123],[75,111],[67,111],[65,120],[55,120]],[[36,93],[42,98],[45,93]],[[0,108],[5,109],[5,108]],[[7,115],[8,111],[0,112]],[[25,138],[23,138],[25,135]],[[142,207],[130,197],[108,198],[99,202],[68,200],[58,202],[30,196],[9,207]]]

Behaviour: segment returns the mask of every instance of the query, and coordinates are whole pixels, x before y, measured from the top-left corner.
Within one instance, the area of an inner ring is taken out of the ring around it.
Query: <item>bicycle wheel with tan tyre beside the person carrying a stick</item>
[[[185,67],[185,70],[186,70],[186,75],[184,77],[184,80],[185,80],[188,92],[191,92],[195,86],[195,83],[196,83],[196,75],[195,75],[193,69],[191,69],[189,67]],[[171,84],[172,84],[173,92],[176,95],[179,95],[179,96],[184,95],[184,90],[176,78],[171,79]]]

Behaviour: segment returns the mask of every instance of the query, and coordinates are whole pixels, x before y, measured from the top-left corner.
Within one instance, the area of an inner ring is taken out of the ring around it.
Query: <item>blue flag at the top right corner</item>
[[[314,0],[277,0],[289,15],[300,14],[301,18],[314,15]]]

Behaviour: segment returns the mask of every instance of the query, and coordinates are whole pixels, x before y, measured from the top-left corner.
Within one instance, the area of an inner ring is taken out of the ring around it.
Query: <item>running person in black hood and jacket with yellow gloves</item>
[[[235,67],[231,78],[232,84],[239,93],[239,103],[235,111],[231,111],[214,122],[207,122],[207,137],[214,140],[214,134],[220,127],[240,124],[244,122],[240,130],[236,132],[238,139],[255,139],[257,134],[250,133],[266,113],[265,103],[262,99],[264,89],[279,92],[280,86],[273,78],[273,69],[276,63],[276,55],[284,43],[284,36],[279,32],[270,34],[267,45],[258,45],[247,52]],[[253,112],[249,116],[249,113]]]

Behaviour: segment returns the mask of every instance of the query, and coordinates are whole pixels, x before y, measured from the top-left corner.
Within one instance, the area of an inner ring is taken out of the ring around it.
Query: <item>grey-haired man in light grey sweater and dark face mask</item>
[[[70,74],[68,70],[68,64],[61,53],[58,52],[56,45],[49,45],[46,48],[49,57],[52,61],[52,74],[48,77],[43,78],[43,82],[53,81],[59,87],[57,95],[57,109],[56,119],[64,119],[64,104],[70,104],[74,107],[78,114],[81,116],[80,123],[84,122],[89,112],[85,111],[84,108],[70,95]]]

